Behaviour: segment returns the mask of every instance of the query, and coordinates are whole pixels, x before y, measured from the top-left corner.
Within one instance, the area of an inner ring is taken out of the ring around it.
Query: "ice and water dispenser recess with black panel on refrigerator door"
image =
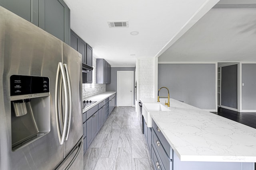
[[[50,132],[50,84],[48,77],[12,75],[12,150]]]

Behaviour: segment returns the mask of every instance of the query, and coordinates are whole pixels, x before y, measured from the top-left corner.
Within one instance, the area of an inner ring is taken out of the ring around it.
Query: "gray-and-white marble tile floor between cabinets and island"
[[[135,107],[115,107],[84,155],[84,170],[154,170]]]

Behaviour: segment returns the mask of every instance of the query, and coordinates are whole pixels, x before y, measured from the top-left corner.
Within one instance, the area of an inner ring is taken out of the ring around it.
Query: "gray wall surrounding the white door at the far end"
[[[134,71],[134,84],[135,84],[135,67],[111,67],[111,83],[106,84],[106,92],[116,92],[117,71]],[[116,99],[117,99],[117,95],[116,95]],[[134,100],[133,100],[133,103],[134,103]]]

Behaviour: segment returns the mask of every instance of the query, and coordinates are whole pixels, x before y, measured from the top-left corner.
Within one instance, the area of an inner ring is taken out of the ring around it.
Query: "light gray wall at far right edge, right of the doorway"
[[[256,64],[242,64],[242,109],[256,110]]]

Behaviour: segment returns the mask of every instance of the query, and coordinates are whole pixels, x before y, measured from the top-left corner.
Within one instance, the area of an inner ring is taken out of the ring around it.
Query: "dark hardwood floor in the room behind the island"
[[[226,117],[233,121],[256,128],[256,113],[237,112],[219,107],[218,112],[211,112],[222,117]]]

